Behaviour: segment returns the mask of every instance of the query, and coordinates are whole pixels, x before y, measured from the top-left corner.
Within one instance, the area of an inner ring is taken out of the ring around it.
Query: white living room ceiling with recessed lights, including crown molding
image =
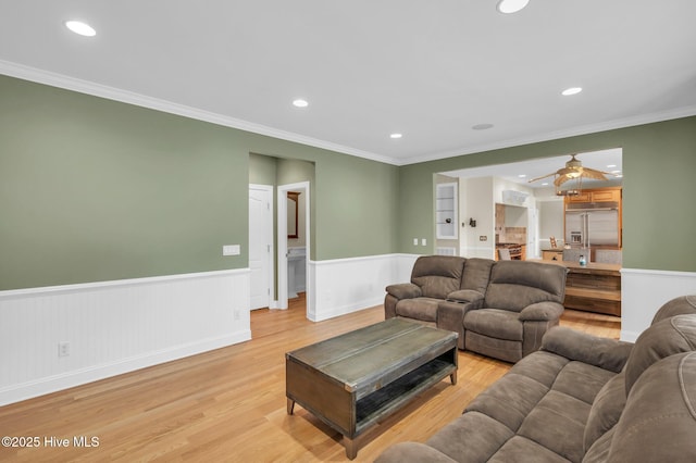
[[[696,1],[495,7],[0,0],[0,73],[396,165],[696,114]]]

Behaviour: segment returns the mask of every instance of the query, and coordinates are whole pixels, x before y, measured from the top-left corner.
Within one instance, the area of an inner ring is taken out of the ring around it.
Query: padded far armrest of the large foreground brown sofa
[[[629,359],[633,343],[601,338],[563,326],[549,329],[542,350],[619,373]]]

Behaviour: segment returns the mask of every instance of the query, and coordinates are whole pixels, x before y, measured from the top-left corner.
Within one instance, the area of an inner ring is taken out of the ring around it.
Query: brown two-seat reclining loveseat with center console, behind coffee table
[[[517,362],[558,325],[566,273],[538,262],[423,255],[410,283],[386,288],[385,318],[456,331],[460,349]]]

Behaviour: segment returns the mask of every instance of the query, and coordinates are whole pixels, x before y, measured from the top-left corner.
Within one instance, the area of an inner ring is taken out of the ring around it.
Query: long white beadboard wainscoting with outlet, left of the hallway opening
[[[248,340],[249,285],[244,268],[0,291],[0,405]]]

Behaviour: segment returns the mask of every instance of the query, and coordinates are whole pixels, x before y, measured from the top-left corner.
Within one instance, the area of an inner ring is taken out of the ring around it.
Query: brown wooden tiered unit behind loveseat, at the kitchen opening
[[[571,261],[538,261],[568,268],[563,305],[621,316],[621,265]]]

